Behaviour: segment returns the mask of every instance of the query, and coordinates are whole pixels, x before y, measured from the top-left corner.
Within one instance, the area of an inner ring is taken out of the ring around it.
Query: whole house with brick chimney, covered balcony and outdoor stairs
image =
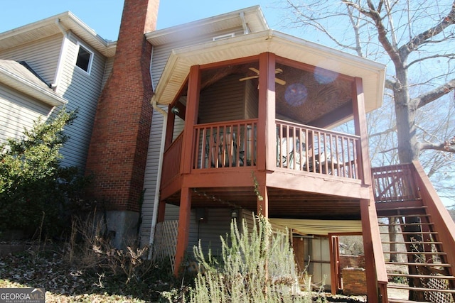
[[[198,241],[216,254],[232,219],[260,213],[332,293],[338,236],[361,235],[368,302],[400,302],[397,276],[416,301],[454,295],[455,226],[422,167],[370,167],[384,65],[274,31],[259,6],[156,30],[158,6],[126,0],[115,43],[72,13],[0,33],[0,140],[79,109],[64,164],[94,176],[114,245],[139,240],[176,273]],[[400,220],[406,273],[387,272],[378,217]]]

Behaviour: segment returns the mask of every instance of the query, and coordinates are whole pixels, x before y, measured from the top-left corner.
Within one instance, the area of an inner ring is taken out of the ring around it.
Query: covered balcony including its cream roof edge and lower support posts
[[[153,101],[167,106],[158,220],[166,204],[179,206],[176,270],[191,209],[260,212],[284,225],[352,220],[350,232],[372,243],[365,112],[380,106],[384,75],[375,62],[274,31],[173,50]],[[365,248],[371,293],[380,252]]]

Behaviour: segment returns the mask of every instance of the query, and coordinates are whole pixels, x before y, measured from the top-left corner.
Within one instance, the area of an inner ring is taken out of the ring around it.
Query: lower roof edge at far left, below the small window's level
[[[55,94],[41,77],[25,62],[0,60],[0,83],[27,94],[50,106],[60,106],[67,101]]]

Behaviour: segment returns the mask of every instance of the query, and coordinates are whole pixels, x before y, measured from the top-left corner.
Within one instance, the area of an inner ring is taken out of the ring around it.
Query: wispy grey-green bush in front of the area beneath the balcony
[[[249,231],[232,221],[230,235],[222,238],[220,260],[194,248],[200,266],[191,302],[311,302],[298,291],[294,252],[287,233],[272,233],[262,216]]]

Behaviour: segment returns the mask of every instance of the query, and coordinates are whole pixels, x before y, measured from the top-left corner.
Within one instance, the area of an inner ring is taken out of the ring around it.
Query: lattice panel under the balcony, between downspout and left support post
[[[173,271],[176,263],[176,246],[177,246],[178,221],[163,221],[156,224],[155,243],[154,243],[154,260],[171,261]]]

